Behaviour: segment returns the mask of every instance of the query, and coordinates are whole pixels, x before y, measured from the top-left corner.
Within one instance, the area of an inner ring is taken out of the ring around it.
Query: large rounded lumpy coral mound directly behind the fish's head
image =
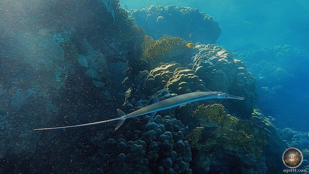
[[[243,96],[245,102],[231,101],[231,112],[237,112],[246,118],[255,107],[257,92],[252,73],[243,62],[234,59],[229,50],[216,45],[197,45],[199,52],[195,55],[192,69],[205,81],[211,91],[229,92]],[[250,118],[246,118],[250,119]]]

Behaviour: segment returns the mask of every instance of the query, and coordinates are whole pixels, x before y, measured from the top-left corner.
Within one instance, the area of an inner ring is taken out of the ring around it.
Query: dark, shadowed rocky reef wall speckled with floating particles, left
[[[144,32],[114,0],[3,1],[0,16],[0,173],[77,172],[93,128],[32,129],[116,116]]]

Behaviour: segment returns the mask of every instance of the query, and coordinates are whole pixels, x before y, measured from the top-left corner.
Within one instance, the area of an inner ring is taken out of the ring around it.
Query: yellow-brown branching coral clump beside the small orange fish
[[[186,43],[184,39],[177,36],[163,35],[157,41],[150,36],[145,36],[140,59],[148,62],[150,69],[157,67],[160,62],[177,60],[181,64],[189,63],[191,48],[188,48]]]

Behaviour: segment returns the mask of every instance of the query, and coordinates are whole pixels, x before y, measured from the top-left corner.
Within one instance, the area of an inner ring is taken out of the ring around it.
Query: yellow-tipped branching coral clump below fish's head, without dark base
[[[196,147],[213,146],[226,150],[248,151],[256,157],[262,156],[262,146],[265,145],[265,137],[261,128],[248,120],[239,120],[226,114],[221,104],[201,105],[194,111],[202,126],[216,127],[205,142],[201,138],[191,142]],[[201,130],[200,128],[198,130]],[[201,131],[194,131],[191,136],[201,137]],[[198,136],[197,136],[198,135]]]

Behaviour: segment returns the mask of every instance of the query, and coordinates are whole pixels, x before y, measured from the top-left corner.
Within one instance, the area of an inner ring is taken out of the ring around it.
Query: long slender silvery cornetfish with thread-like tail
[[[101,123],[106,123],[110,121],[116,121],[119,120],[115,130],[117,130],[123,122],[125,122],[125,119],[127,118],[132,118],[132,117],[137,117],[140,115],[145,115],[150,113],[150,118],[149,121],[153,119],[157,111],[161,111],[164,109],[169,109],[172,107],[177,107],[183,104],[187,104],[190,102],[197,102],[200,100],[206,100],[206,99],[211,99],[211,98],[231,98],[231,99],[238,99],[238,100],[243,100],[243,97],[237,97],[233,96],[230,94],[226,94],[223,92],[193,92],[193,93],[188,93],[188,94],[182,94],[182,95],[177,95],[175,97],[171,97],[162,101],[159,101],[158,96],[155,94],[154,96],[154,102],[153,104],[143,107],[139,110],[133,111],[129,114],[125,114],[123,111],[120,109],[117,109],[118,113],[118,118],[110,119],[110,120],[105,120],[105,121],[98,121],[94,123],[87,123],[87,124],[79,124],[79,125],[74,125],[74,126],[64,126],[64,127],[55,127],[55,128],[39,128],[39,129],[34,129],[34,130],[48,130],[48,129],[61,129],[61,128],[72,128],[72,127],[78,127],[78,126],[87,126],[87,125],[93,125],[93,124],[101,124]]]

